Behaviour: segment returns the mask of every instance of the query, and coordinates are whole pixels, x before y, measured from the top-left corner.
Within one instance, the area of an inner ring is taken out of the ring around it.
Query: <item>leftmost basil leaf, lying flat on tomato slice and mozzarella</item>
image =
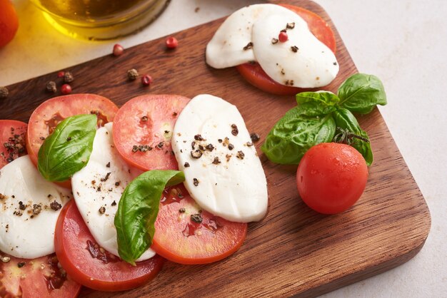
[[[89,162],[96,115],[74,115],[56,126],[41,145],[37,168],[46,180],[64,181]]]

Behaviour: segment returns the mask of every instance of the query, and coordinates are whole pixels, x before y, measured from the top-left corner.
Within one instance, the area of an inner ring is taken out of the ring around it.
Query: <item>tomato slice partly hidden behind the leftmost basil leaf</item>
[[[98,125],[102,126],[114,120],[116,111],[115,103],[96,94],[70,94],[44,101],[29,118],[26,148],[31,161],[37,165],[42,143],[61,120],[72,115],[94,113],[98,115]]]

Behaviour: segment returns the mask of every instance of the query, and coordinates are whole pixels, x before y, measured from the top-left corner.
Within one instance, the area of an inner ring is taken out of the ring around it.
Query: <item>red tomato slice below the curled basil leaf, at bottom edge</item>
[[[61,210],[54,233],[56,255],[76,282],[99,291],[123,291],[156,277],[164,259],[155,255],[136,266],[102,250],[89,232],[74,200]]]

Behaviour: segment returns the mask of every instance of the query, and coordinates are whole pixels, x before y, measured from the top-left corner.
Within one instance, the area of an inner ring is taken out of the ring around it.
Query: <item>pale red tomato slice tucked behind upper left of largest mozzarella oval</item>
[[[132,98],[116,113],[114,143],[124,160],[141,170],[178,170],[171,148],[177,116],[191,99],[176,95]]]

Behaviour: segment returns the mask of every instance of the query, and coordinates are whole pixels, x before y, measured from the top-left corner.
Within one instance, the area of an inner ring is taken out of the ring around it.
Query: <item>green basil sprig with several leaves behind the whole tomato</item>
[[[268,133],[261,150],[274,163],[298,164],[313,145],[331,142],[336,127],[368,138],[353,113],[370,113],[376,105],[386,105],[386,94],[376,76],[356,73],[338,88],[338,95],[328,91],[296,94],[298,106],[288,111]],[[371,145],[353,139],[351,145],[373,163]]]

